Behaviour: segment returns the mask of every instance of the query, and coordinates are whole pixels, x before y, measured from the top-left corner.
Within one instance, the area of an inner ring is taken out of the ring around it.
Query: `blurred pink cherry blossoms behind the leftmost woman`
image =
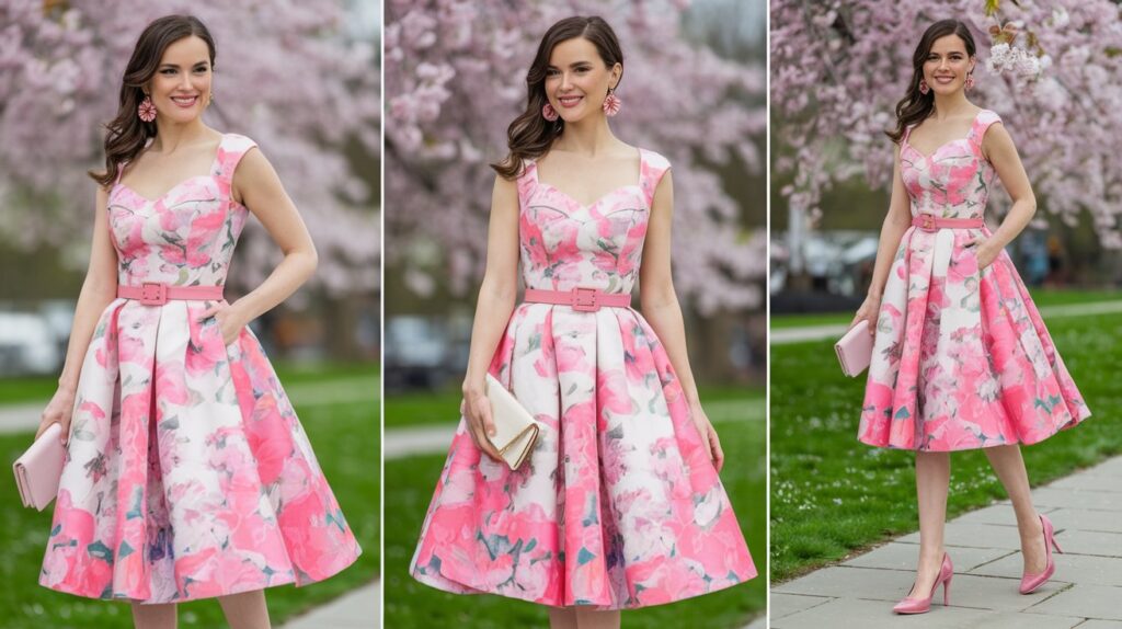
[[[103,166],[103,124],[144,27],[163,15],[203,20],[215,38],[208,122],[255,140],[300,207],[332,294],[377,286],[375,186],[380,150],[376,29],[356,30],[338,0],[0,0],[0,238],[83,248]],[[365,170],[364,170],[365,169]],[[256,225],[251,223],[251,225]],[[277,260],[251,226],[234,266],[242,284]],[[82,256],[74,256],[82,261]]]

